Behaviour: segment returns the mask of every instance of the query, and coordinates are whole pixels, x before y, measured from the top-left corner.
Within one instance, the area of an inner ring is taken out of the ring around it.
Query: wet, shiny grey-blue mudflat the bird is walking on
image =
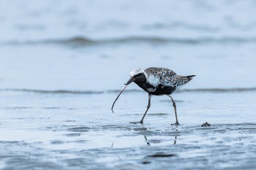
[[[1,169],[255,169],[253,99],[221,104],[234,93],[176,93],[177,127],[167,97],[152,98],[140,125],[129,122],[142,117],[147,94],[124,92],[113,114],[117,94],[1,91],[17,99],[1,103]]]

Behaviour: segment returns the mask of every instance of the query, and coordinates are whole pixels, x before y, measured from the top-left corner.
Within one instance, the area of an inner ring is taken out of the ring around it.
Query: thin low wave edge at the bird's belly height
[[[17,91],[25,93],[42,93],[42,94],[76,94],[76,95],[86,95],[86,94],[102,94],[102,93],[120,93],[121,90],[34,90],[34,89],[18,89],[18,88],[7,88],[0,89],[0,91]],[[231,93],[231,92],[250,92],[256,91],[256,88],[197,88],[197,89],[183,89],[177,90],[175,93]],[[125,93],[144,93],[143,90],[125,90]]]

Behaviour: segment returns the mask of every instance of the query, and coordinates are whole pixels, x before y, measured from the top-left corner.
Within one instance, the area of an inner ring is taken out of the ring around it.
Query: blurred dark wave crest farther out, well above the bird
[[[38,41],[10,41],[1,42],[0,45],[68,45],[71,47],[86,47],[92,45],[125,45],[125,44],[180,44],[180,45],[198,45],[198,44],[244,44],[255,43],[256,37],[203,37],[203,38],[164,38],[164,37],[146,37],[146,36],[127,36],[115,39],[88,39],[82,36],[72,37],[67,39],[45,39]]]

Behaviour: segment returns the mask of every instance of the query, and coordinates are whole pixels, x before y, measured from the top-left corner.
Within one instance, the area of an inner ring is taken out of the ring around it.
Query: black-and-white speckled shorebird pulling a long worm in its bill
[[[195,75],[190,76],[179,76],[175,72],[173,72],[170,69],[165,68],[158,68],[158,67],[150,67],[148,69],[133,69],[131,72],[129,72],[129,75],[131,76],[128,82],[124,85],[124,87],[127,88],[127,85],[129,85],[131,82],[135,82],[140,88],[145,90],[148,93],[148,106],[146,108],[146,112],[144,113],[142,119],[138,123],[143,123],[143,119],[146,116],[146,113],[148,112],[148,109],[151,105],[151,96],[162,96],[166,95],[170,97],[171,101],[173,101],[173,108],[176,116],[176,123],[173,125],[179,125],[178,123],[178,115],[176,110],[176,103],[173,100],[172,96],[170,96],[171,93],[173,93],[175,90],[178,90],[183,85],[187,84],[190,80],[192,80]],[[121,90],[121,92],[116,97],[116,100],[113,102],[112,105],[112,112],[114,104],[116,103],[118,97],[121,95],[121,93],[124,91]]]

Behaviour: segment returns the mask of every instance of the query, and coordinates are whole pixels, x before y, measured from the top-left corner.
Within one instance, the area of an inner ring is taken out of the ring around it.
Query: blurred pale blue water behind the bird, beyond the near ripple
[[[116,90],[131,69],[255,87],[255,1],[1,1],[1,88]],[[102,84],[103,83],[103,84]]]

